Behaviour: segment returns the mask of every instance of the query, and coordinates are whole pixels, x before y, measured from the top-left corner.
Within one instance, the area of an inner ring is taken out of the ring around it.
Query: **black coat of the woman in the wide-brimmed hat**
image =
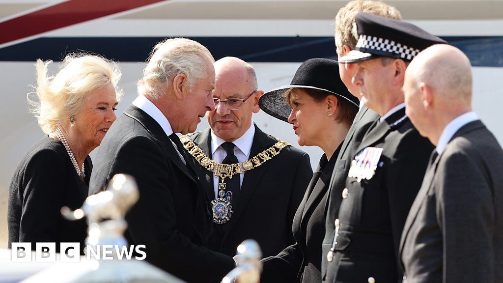
[[[293,220],[296,243],[263,259],[261,282],[320,282],[328,184],[342,144],[327,161],[323,155]]]

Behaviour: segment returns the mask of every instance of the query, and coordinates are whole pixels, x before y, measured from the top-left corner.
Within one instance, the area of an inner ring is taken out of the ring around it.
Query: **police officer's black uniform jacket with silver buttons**
[[[375,123],[357,153],[382,148],[379,166],[370,180],[348,177],[349,194],[341,202],[341,223],[328,282],[398,282],[398,245],[407,213],[423,182],[434,146],[422,137],[405,109]]]

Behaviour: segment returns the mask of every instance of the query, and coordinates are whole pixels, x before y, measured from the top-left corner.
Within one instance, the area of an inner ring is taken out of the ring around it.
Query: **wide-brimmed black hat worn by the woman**
[[[355,107],[359,107],[358,98],[353,96],[339,75],[339,63],[325,58],[312,58],[303,62],[292,83],[264,93],[259,99],[259,106],[267,114],[288,122],[292,107],[284,94],[291,89],[314,89],[346,99]]]

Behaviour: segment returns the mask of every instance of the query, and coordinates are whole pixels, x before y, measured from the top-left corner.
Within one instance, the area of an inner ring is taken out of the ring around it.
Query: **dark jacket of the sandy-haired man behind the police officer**
[[[351,125],[339,155],[337,156],[337,161],[331,175],[330,186],[328,187],[325,237],[323,239],[321,257],[321,278],[323,280],[326,277],[327,270],[328,272],[333,272],[330,269],[333,268],[334,265],[331,263],[328,264],[326,255],[332,245],[335,230],[334,221],[339,217],[339,207],[343,200],[342,192],[346,184],[346,178],[348,178],[351,161],[357,154],[356,150],[360,146],[363,136],[370,125],[378,118],[379,114],[363,106],[356,115],[353,125]]]

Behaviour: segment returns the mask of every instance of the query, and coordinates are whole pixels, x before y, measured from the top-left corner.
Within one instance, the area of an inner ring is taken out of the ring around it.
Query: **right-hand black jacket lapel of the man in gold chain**
[[[251,145],[251,150],[250,150],[250,155],[249,157],[252,158],[256,156],[257,154],[263,152],[264,150],[270,148],[275,144],[276,140],[271,140],[271,138],[268,137],[267,134],[265,134],[262,130],[255,125],[255,136],[253,139],[253,144]],[[281,153],[280,153],[281,154]],[[244,208],[248,204],[248,201],[250,197],[254,194],[255,190],[257,189],[257,186],[259,185],[260,180],[262,179],[262,176],[264,173],[267,171],[267,167],[271,161],[265,162],[261,166],[251,169],[250,171],[246,171],[244,173],[243,177],[243,182],[241,184],[241,190],[239,192],[239,200],[237,203],[237,207],[234,209],[234,214],[231,217],[231,220],[229,221],[229,227],[226,230],[227,233],[224,236],[223,241],[225,241],[228,231],[232,231],[232,227],[234,227],[235,223],[241,216]]]

